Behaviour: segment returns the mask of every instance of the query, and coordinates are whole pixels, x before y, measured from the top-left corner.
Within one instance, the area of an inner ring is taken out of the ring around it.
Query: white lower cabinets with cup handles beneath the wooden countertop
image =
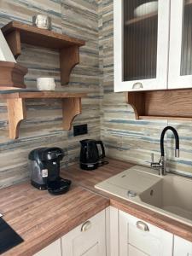
[[[34,256],[192,256],[192,242],[108,207]]]

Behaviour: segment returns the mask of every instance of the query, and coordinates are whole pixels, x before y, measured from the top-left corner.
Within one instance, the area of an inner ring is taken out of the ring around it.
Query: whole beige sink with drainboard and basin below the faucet
[[[151,168],[133,166],[96,184],[96,189],[192,226],[191,178],[169,173],[161,177]]]

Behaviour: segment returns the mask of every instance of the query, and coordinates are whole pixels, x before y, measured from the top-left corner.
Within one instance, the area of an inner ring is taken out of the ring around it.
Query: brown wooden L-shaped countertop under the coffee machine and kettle
[[[108,165],[94,172],[82,171],[79,165],[70,166],[61,171],[62,177],[73,181],[66,195],[49,195],[47,191],[33,188],[30,183],[0,189],[0,212],[24,239],[23,243],[2,255],[31,256],[109,205],[192,241],[192,227],[94,188],[96,183],[131,166],[111,159]]]

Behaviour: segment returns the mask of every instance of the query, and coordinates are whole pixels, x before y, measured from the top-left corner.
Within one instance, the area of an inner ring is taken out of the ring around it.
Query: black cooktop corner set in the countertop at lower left
[[[3,218],[0,218],[0,254],[24,241]]]

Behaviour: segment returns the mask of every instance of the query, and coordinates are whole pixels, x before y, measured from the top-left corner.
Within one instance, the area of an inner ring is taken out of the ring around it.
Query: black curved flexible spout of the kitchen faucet
[[[171,130],[174,134],[175,137],[175,156],[179,157],[179,137],[177,134],[177,131],[175,130],[175,128],[173,128],[172,126],[166,126],[166,128],[163,129],[161,136],[160,136],[160,153],[161,153],[161,157],[165,156],[165,152],[164,152],[164,137],[166,134],[166,131]]]

